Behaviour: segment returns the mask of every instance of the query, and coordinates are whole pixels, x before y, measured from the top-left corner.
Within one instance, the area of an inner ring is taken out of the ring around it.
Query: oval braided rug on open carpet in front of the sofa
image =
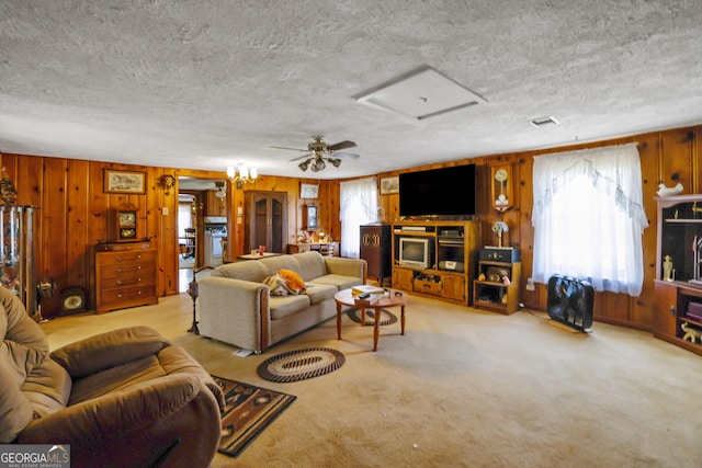
[[[344,362],[346,357],[337,350],[310,347],[269,357],[259,364],[258,374],[267,380],[291,383],[329,374]]]

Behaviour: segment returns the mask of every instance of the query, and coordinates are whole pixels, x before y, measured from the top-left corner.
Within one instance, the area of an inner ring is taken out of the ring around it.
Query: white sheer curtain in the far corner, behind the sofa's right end
[[[377,180],[359,179],[340,185],[341,256],[358,259],[361,251],[360,227],[374,221],[377,213]]]

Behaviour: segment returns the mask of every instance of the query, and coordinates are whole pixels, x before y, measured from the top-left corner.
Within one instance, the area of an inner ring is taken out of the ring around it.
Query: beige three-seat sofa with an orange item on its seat
[[[305,282],[299,295],[272,296],[263,283],[280,270]],[[366,262],[318,252],[220,265],[200,279],[200,334],[260,353],[336,315],[333,295],[365,284]]]

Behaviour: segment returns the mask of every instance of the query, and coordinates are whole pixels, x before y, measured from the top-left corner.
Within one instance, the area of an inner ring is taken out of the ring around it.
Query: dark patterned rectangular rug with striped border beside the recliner
[[[236,380],[216,376],[212,378],[222,388],[225,398],[219,452],[231,457],[239,455],[297,398]]]

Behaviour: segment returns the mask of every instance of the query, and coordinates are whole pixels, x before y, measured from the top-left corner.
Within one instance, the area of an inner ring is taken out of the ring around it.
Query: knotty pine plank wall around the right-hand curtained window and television
[[[570,151],[585,148],[596,148],[626,142],[638,144],[641,155],[644,209],[648,218],[649,227],[643,235],[644,248],[644,288],[639,297],[630,297],[623,294],[597,293],[595,299],[596,320],[620,324],[641,330],[650,330],[655,313],[654,278],[656,269],[656,191],[658,184],[664,182],[667,186],[673,186],[678,182],[684,186],[683,193],[699,193],[702,179],[702,126],[675,128],[661,132],[634,135],[626,138],[618,138],[591,144],[573,145],[539,151],[520,151],[507,155],[491,155],[482,158],[465,159],[443,164],[429,164],[411,170],[434,169],[440,167],[475,162],[480,164],[477,171],[478,179],[478,205],[479,219],[483,227],[483,244],[495,246],[496,239],[490,229],[499,219],[489,206],[490,199],[490,167],[509,162],[512,165],[513,198],[516,206],[505,214],[503,220],[508,224],[507,243],[519,246],[522,251],[522,284],[521,299],[528,308],[545,310],[547,290],[545,285],[536,284],[533,292],[525,288],[526,278],[531,276],[533,265],[533,239],[534,229],[531,225],[531,207],[533,205],[532,170],[533,158],[539,155]],[[397,175],[394,171],[378,174],[378,183],[382,178]],[[399,219],[399,196],[381,195],[380,203],[385,210],[385,219],[395,221]]]

